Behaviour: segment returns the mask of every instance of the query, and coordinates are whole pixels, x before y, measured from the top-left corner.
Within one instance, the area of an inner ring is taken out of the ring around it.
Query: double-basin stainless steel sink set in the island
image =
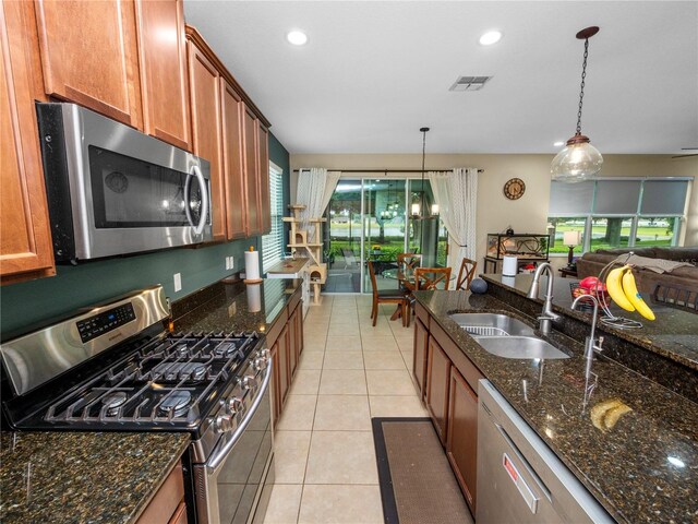
[[[520,320],[501,313],[453,313],[450,319],[468,332],[482,348],[504,358],[569,358],[552,344],[535,336]]]

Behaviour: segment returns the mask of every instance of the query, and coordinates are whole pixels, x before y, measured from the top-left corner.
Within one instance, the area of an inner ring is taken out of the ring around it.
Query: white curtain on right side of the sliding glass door
[[[450,237],[448,265],[457,272],[464,258],[476,260],[478,169],[459,167],[450,172],[432,171],[429,181]]]

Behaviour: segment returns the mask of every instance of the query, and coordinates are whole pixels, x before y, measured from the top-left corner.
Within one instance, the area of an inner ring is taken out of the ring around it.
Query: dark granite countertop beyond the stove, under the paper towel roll
[[[266,333],[301,283],[297,278],[265,278],[249,285],[218,283],[202,290],[198,299],[193,296],[172,305],[174,331]],[[178,310],[184,313],[178,315]]]

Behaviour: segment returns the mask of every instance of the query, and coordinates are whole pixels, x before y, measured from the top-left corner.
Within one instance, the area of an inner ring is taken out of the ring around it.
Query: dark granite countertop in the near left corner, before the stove
[[[3,432],[0,522],[131,523],[189,433]]]

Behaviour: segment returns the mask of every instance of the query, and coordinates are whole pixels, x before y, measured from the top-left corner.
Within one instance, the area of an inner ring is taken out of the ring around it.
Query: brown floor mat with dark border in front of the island
[[[472,523],[429,418],[373,418],[386,524]]]

